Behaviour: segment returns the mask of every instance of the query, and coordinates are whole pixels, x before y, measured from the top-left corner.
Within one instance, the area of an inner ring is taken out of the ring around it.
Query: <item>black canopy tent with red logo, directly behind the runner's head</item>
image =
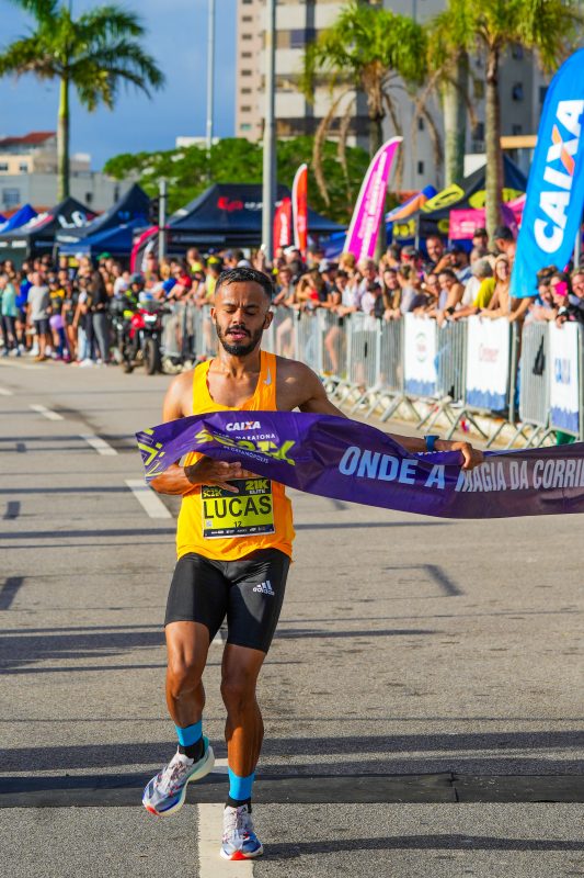
[[[278,185],[276,205],[290,190]],[[262,187],[259,183],[215,183],[168,224],[168,249],[180,252],[190,246],[257,247],[262,240]],[[308,210],[308,234],[327,236],[343,226]]]

